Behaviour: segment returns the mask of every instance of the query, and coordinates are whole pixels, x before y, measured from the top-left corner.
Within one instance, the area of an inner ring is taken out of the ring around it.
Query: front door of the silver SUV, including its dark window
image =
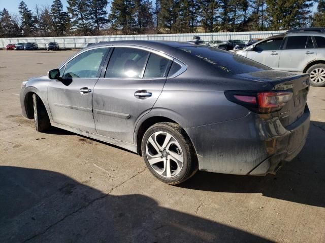
[[[249,51],[247,51],[246,57],[273,69],[278,69],[282,41],[283,37],[267,39],[256,44],[253,50],[247,49]]]

